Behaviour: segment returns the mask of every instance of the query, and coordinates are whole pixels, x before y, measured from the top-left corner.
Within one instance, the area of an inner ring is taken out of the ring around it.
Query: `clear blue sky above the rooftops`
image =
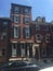
[[[32,21],[44,16],[48,22],[53,20],[53,0],[0,0],[0,17],[10,17],[11,3],[30,5]]]

